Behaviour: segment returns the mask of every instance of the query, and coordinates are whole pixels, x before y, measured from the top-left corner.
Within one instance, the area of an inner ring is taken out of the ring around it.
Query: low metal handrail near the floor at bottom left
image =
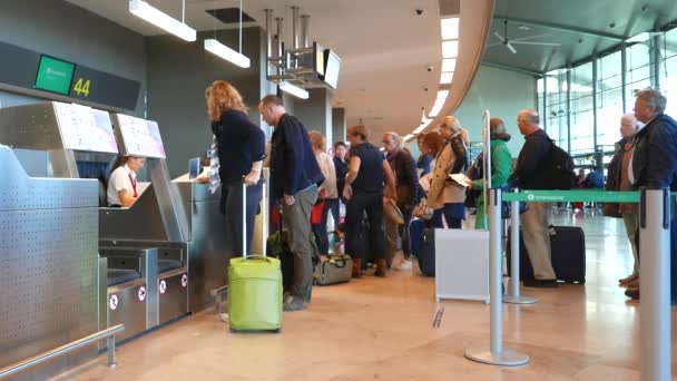
[[[8,377],[8,375],[12,375],[14,373],[18,373],[22,370],[26,370],[28,368],[31,368],[33,365],[37,365],[39,363],[42,363],[47,360],[57,358],[59,355],[66,354],[68,352],[71,352],[78,348],[85,346],[85,345],[89,345],[92,343],[98,342],[101,339],[107,339],[108,340],[108,365],[110,368],[114,368],[116,365],[116,361],[115,361],[115,334],[116,333],[120,333],[125,331],[125,325],[122,324],[118,324],[115,326],[111,326],[107,330],[104,331],[99,331],[97,333],[90,334],[89,336],[82,338],[80,340],[76,340],[71,343],[68,343],[66,345],[61,345],[59,348],[55,348],[51,351],[47,351],[45,353],[40,353],[36,356],[32,356],[30,359],[23,360],[21,362],[18,362],[16,364],[6,367],[0,369],[0,379]]]

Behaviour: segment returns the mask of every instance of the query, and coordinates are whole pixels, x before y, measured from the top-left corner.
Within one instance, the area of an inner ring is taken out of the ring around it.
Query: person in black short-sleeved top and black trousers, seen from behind
[[[347,201],[346,253],[353,257],[353,277],[362,276],[362,262],[366,261],[365,248],[374,252],[370,257],[376,261],[374,275],[385,276],[385,235],[383,232],[383,184],[390,194],[396,194],[395,178],[387,160],[374,145],[369,143],[366,126],[352,126],[347,129],[351,143],[350,170],[345,178],[343,197]],[[362,233],[362,219],[366,213],[369,232]],[[367,237],[365,243],[361,237]]]

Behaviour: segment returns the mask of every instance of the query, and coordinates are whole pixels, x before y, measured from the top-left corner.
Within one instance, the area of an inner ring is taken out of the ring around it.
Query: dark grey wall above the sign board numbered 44
[[[2,0],[0,40],[141,82],[136,114],[144,115],[143,36],[63,0]],[[2,106],[37,100],[0,90]]]

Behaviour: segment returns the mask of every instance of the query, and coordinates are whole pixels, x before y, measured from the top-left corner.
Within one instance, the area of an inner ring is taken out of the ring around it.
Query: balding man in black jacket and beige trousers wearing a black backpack
[[[517,160],[517,167],[509,180],[520,189],[570,189],[576,175],[573,160],[550,139],[539,126],[539,115],[532,109],[520,111],[518,128],[524,136],[524,145]],[[557,276],[552,268],[550,234],[548,223],[549,203],[527,203],[522,214],[524,245],[533,266],[533,279],[526,279],[529,287],[557,287]]]

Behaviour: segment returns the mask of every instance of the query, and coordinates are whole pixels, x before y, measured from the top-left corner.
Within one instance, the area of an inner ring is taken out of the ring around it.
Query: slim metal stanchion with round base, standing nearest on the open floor
[[[503,276],[501,242],[501,189],[489,194],[489,286],[491,297],[491,345],[489,349],[465,350],[465,358],[492,365],[516,367],[529,362],[529,356],[503,348]]]

